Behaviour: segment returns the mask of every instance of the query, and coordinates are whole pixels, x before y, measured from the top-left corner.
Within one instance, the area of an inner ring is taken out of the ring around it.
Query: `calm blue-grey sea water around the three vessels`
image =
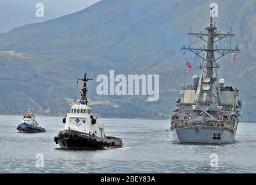
[[[168,120],[101,119],[106,134],[121,137],[122,149],[60,150],[53,137],[62,117],[37,116],[46,133],[20,134],[20,116],[0,116],[1,173],[251,173],[256,172],[256,124],[240,123],[231,145],[172,142]],[[218,154],[218,168],[210,155]],[[37,154],[44,167],[37,167]]]

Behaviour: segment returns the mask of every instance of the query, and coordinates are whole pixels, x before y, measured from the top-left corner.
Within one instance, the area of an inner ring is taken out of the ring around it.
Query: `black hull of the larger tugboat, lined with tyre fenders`
[[[60,131],[59,134],[54,138],[54,141],[56,144],[59,144],[62,149],[100,150],[104,149],[104,147],[122,147],[122,140],[120,138],[110,136],[100,138],[95,135],[89,135],[71,129]]]

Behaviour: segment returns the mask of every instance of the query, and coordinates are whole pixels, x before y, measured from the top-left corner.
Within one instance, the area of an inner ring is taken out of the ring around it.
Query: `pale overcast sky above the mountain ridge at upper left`
[[[100,0],[0,0],[0,33],[24,24],[64,16]],[[44,17],[35,16],[37,3],[44,4]]]

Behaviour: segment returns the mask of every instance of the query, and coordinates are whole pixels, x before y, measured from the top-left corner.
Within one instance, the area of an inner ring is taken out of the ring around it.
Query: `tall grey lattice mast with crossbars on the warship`
[[[207,28],[205,28],[204,32],[192,33],[190,31],[190,33],[188,34],[189,36],[196,36],[197,38],[200,38],[207,43],[207,46],[197,48],[192,48],[191,46],[183,46],[182,51],[192,51],[192,53],[203,59],[203,64],[201,64],[200,66],[201,77],[199,81],[199,86],[197,87],[196,91],[198,95],[197,102],[202,101],[202,98],[199,97],[201,97],[203,94],[207,94],[207,96],[209,97],[209,102],[211,102],[216,109],[218,104],[217,92],[215,92],[215,88],[212,88],[216,87],[217,84],[218,92],[220,92],[218,82],[215,83],[218,80],[217,70],[219,68],[219,65],[216,61],[230,52],[238,53],[239,49],[237,47],[235,49],[231,49],[231,45],[230,49],[222,49],[222,47],[214,46],[214,43],[218,42],[219,40],[226,37],[234,36],[234,34],[232,34],[232,31],[228,32],[227,34],[221,34],[217,32],[217,27],[215,27],[215,24],[212,24],[212,14],[210,14],[210,24]],[[201,53],[204,52],[207,53],[205,58],[201,56]],[[215,58],[214,53],[218,53],[217,58]],[[201,103],[202,102],[200,102],[200,104]]]

